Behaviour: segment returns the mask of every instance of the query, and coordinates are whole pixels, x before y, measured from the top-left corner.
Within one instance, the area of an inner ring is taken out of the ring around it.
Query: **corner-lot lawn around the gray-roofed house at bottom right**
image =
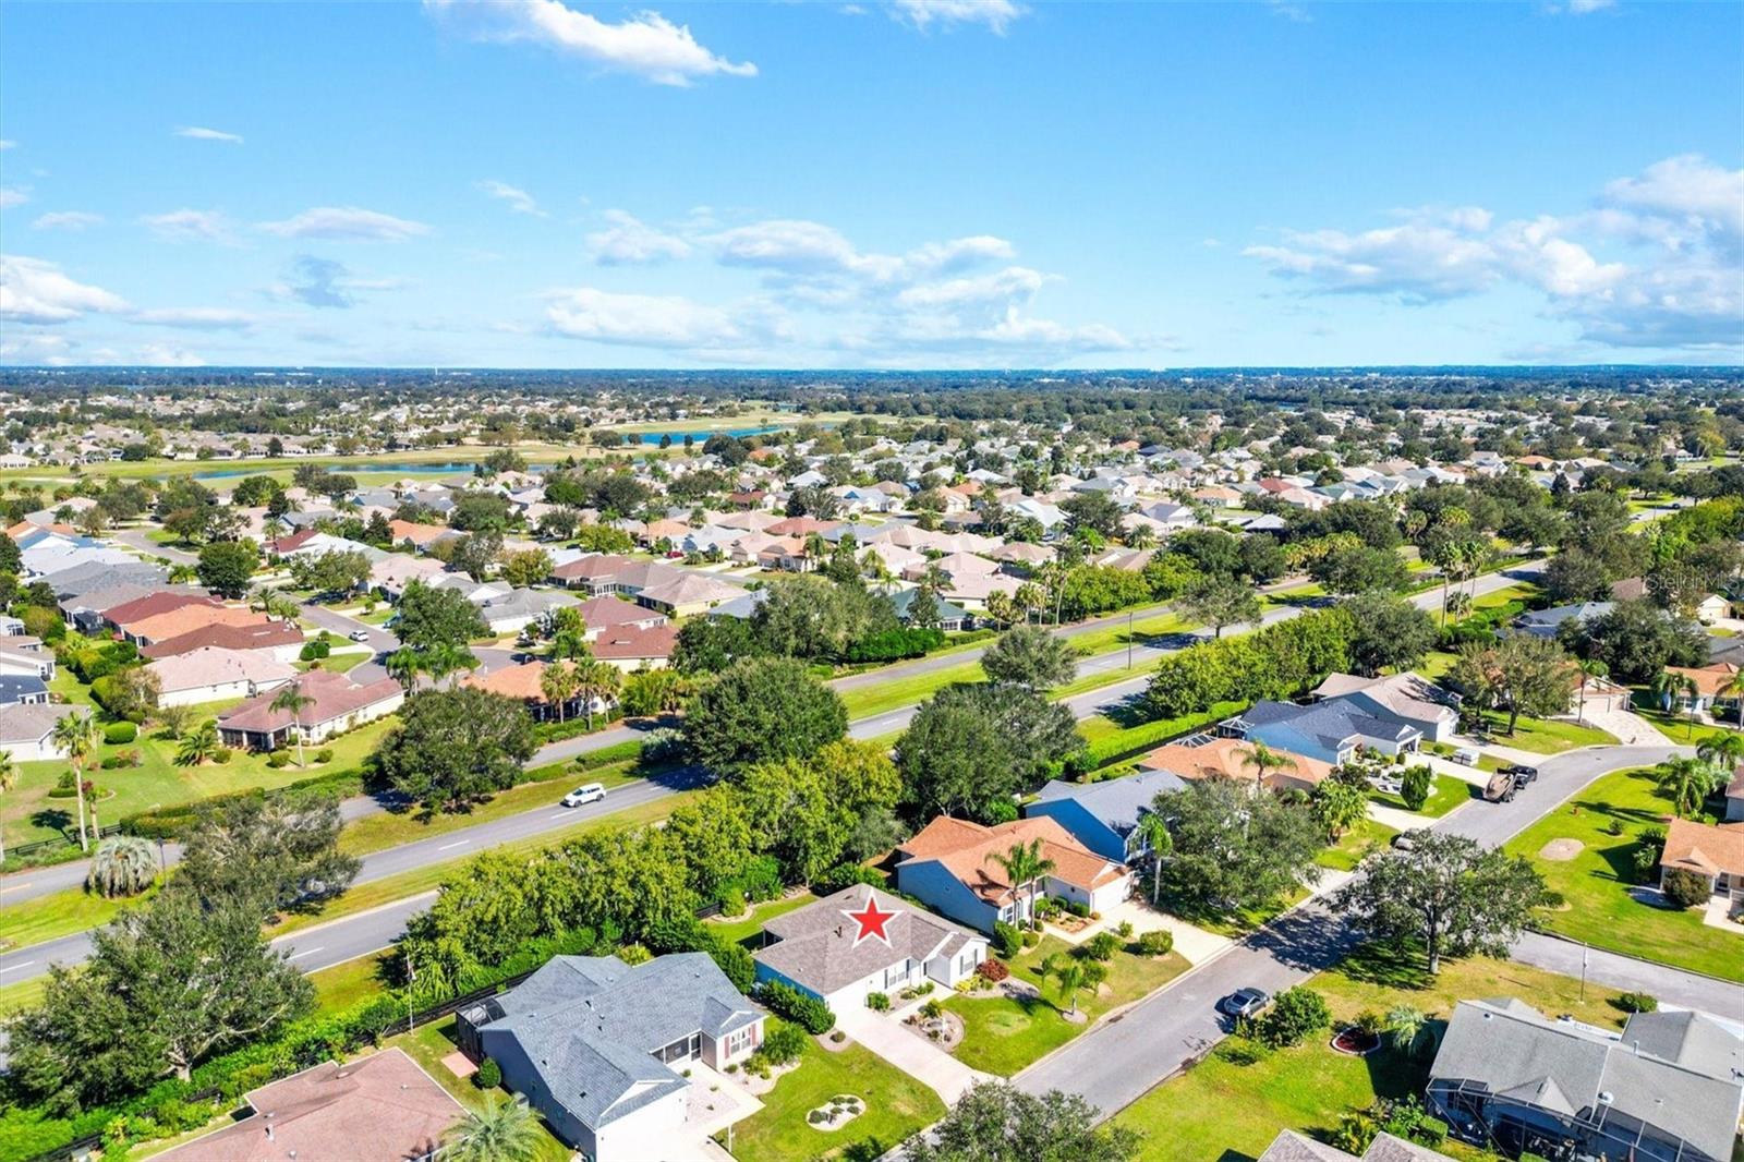
[[[1604,1028],[1624,1015],[1610,991],[1589,984],[1582,1000],[1580,982],[1570,977],[1477,958],[1444,963],[1439,977],[1425,979],[1409,954],[1392,949],[1364,949],[1308,988],[1325,996],[1336,1021],[1395,1005],[1446,1021],[1454,1001],[1484,996],[1517,996],[1552,1017],[1566,1012]],[[1313,1038],[1252,1064],[1212,1054],[1127,1106],[1116,1122],[1144,1134],[1139,1157],[1146,1162],[1243,1162],[1264,1153],[1282,1129],[1324,1139],[1341,1113],[1376,1097],[1420,1096],[1425,1080],[1425,1061],[1390,1049],[1350,1057]],[[1489,1157],[1460,1143],[1444,1150],[1456,1159]]]

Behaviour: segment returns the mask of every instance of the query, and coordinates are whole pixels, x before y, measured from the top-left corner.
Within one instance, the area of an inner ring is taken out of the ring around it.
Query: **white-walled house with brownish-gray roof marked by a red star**
[[[846,913],[896,913],[888,940],[856,939],[858,923]],[[764,925],[764,946],[753,953],[759,981],[780,981],[830,1008],[865,1003],[869,993],[895,993],[926,981],[952,988],[987,960],[987,937],[968,932],[867,885],[842,888],[816,904]]]

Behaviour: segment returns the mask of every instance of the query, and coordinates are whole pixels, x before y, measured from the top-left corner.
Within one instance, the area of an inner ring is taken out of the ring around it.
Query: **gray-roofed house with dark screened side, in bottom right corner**
[[[1516,998],[1460,1001],[1428,1106],[1456,1138],[1509,1157],[1727,1162],[1744,1038],[1697,1012],[1638,1012],[1617,1033]]]

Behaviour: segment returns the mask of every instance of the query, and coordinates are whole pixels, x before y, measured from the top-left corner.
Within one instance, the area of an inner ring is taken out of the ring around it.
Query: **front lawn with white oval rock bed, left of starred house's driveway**
[[[839,1131],[809,1125],[806,1115],[837,1094],[865,1101],[865,1113]],[[806,1162],[849,1153],[875,1159],[945,1117],[938,1094],[865,1047],[830,1050],[811,1038],[806,1038],[799,1068],[778,1077],[762,1103],[762,1110],[732,1127],[734,1157],[755,1162]]]

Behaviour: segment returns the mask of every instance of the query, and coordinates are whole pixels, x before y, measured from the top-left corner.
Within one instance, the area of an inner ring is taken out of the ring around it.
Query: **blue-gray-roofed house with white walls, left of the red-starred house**
[[[630,967],[555,956],[527,981],[457,1014],[460,1049],[488,1057],[591,1162],[691,1157],[691,1063],[738,1064],[764,1012],[706,953]]]

